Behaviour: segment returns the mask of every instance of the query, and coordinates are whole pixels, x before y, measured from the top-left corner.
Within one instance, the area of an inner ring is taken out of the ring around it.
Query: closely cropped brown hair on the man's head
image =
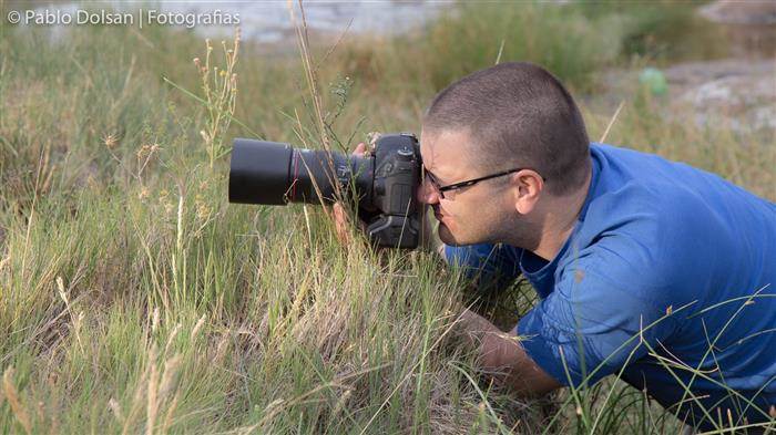
[[[555,195],[579,187],[590,170],[579,107],[555,76],[532,63],[502,63],[442,90],[426,111],[423,131],[442,130],[468,130],[469,152],[483,170],[534,168]]]

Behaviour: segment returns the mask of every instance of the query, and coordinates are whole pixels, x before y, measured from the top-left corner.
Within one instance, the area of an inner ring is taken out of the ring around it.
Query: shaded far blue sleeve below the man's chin
[[[445,259],[451,267],[460,268],[479,291],[498,292],[520,276],[519,250],[502,244],[445,245]]]

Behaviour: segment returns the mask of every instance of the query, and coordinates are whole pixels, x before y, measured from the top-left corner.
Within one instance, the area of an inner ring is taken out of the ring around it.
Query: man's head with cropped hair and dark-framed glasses
[[[504,63],[440,92],[422,122],[421,155],[431,176],[419,191],[448,245],[521,241],[555,198],[579,193],[590,174],[589,138],[569,92],[548,71]],[[460,189],[439,186],[520,169]],[[438,187],[437,186],[437,187]]]

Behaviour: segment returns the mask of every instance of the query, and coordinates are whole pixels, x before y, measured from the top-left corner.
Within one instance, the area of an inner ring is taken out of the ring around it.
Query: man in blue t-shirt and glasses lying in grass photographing
[[[522,275],[540,297],[509,333],[463,314],[483,369],[523,395],[616,374],[703,429],[773,423],[776,205],[591,144],[571,95],[529,63],[440,92],[420,146],[447,261],[480,291]]]

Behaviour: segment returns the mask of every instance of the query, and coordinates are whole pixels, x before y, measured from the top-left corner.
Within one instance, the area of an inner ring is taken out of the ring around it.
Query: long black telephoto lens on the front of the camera
[[[236,138],[229,170],[229,203],[334,203],[337,185],[349,189],[355,182],[359,203],[371,204],[374,173],[372,157]]]

